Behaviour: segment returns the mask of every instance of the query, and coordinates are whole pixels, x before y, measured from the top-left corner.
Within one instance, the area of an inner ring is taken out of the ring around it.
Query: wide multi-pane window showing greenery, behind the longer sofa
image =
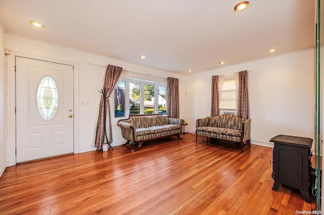
[[[125,78],[114,91],[114,117],[133,114],[167,114],[166,88],[153,81]]]

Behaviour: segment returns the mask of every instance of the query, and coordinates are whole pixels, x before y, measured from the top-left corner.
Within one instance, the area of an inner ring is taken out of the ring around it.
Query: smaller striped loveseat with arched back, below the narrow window
[[[222,114],[216,117],[198,119],[196,122],[197,135],[230,140],[251,146],[251,119],[236,117],[232,114]]]

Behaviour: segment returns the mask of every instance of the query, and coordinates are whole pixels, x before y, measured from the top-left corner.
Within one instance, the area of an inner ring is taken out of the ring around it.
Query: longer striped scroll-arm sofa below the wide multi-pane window
[[[121,134],[127,142],[138,144],[132,151],[138,150],[143,142],[161,137],[176,135],[179,139],[184,120],[164,117],[160,114],[130,115],[128,119],[119,120],[117,125],[121,128]]]

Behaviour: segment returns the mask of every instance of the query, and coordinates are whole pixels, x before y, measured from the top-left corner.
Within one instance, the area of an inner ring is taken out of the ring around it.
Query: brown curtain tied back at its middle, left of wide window
[[[95,147],[100,148],[101,144],[104,141],[104,132],[106,128],[106,119],[108,113],[108,129],[109,129],[109,136],[107,138],[107,142],[112,142],[112,133],[111,133],[111,114],[110,114],[110,102],[109,97],[113,92],[114,88],[118,84],[118,81],[125,76],[127,72],[123,71],[123,68],[116,67],[112,65],[108,65],[106,69],[106,74],[103,80],[102,89],[101,89],[101,100],[99,106],[99,116],[97,122],[97,129],[96,129],[96,140],[95,140]],[[108,105],[106,105],[108,103]]]

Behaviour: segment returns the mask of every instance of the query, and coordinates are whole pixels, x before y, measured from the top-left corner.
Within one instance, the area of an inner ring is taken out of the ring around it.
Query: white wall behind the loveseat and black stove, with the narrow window
[[[314,138],[314,50],[247,62],[187,77],[188,131],[210,116],[213,75],[248,70],[251,138],[255,144],[286,134]],[[272,143],[271,143],[272,144]]]

